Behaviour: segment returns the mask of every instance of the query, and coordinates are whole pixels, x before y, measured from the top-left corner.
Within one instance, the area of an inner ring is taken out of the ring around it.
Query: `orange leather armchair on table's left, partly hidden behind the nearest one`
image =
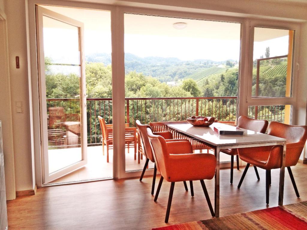
[[[151,146],[150,146],[150,143],[149,143],[149,139],[148,139],[148,136],[147,136],[147,128],[150,128],[150,126],[149,125],[142,125],[139,120],[136,120],[135,124],[137,126],[138,135],[140,137],[140,142],[141,142],[141,145],[142,145],[142,150],[143,150],[142,154],[146,157],[146,162],[145,162],[145,165],[144,165],[141,177],[140,177],[140,181],[142,181],[149,160],[153,163],[155,163],[155,160],[153,158],[153,152],[152,152],[152,149],[151,149]],[[166,142],[188,141],[188,140],[185,140],[185,139],[173,139],[173,134],[171,132],[167,132],[167,131],[154,132],[154,134],[162,136],[164,139],[166,139],[165,140]],[[153,183],[152,183],[152,188],[151,188],[151,195],[153,195],[153,193],[154,193],[156,175],[157,175],[157,167],[156,167],[156,164],[155,164],[154,169],[153,169]],[[187,183],[185,181],[183,183],[185,185],[185,190],[188,191]],[[192,182],[190,182],[190,187],[191,187],[191,195],[194,196],[194,190],[193,190]]]

